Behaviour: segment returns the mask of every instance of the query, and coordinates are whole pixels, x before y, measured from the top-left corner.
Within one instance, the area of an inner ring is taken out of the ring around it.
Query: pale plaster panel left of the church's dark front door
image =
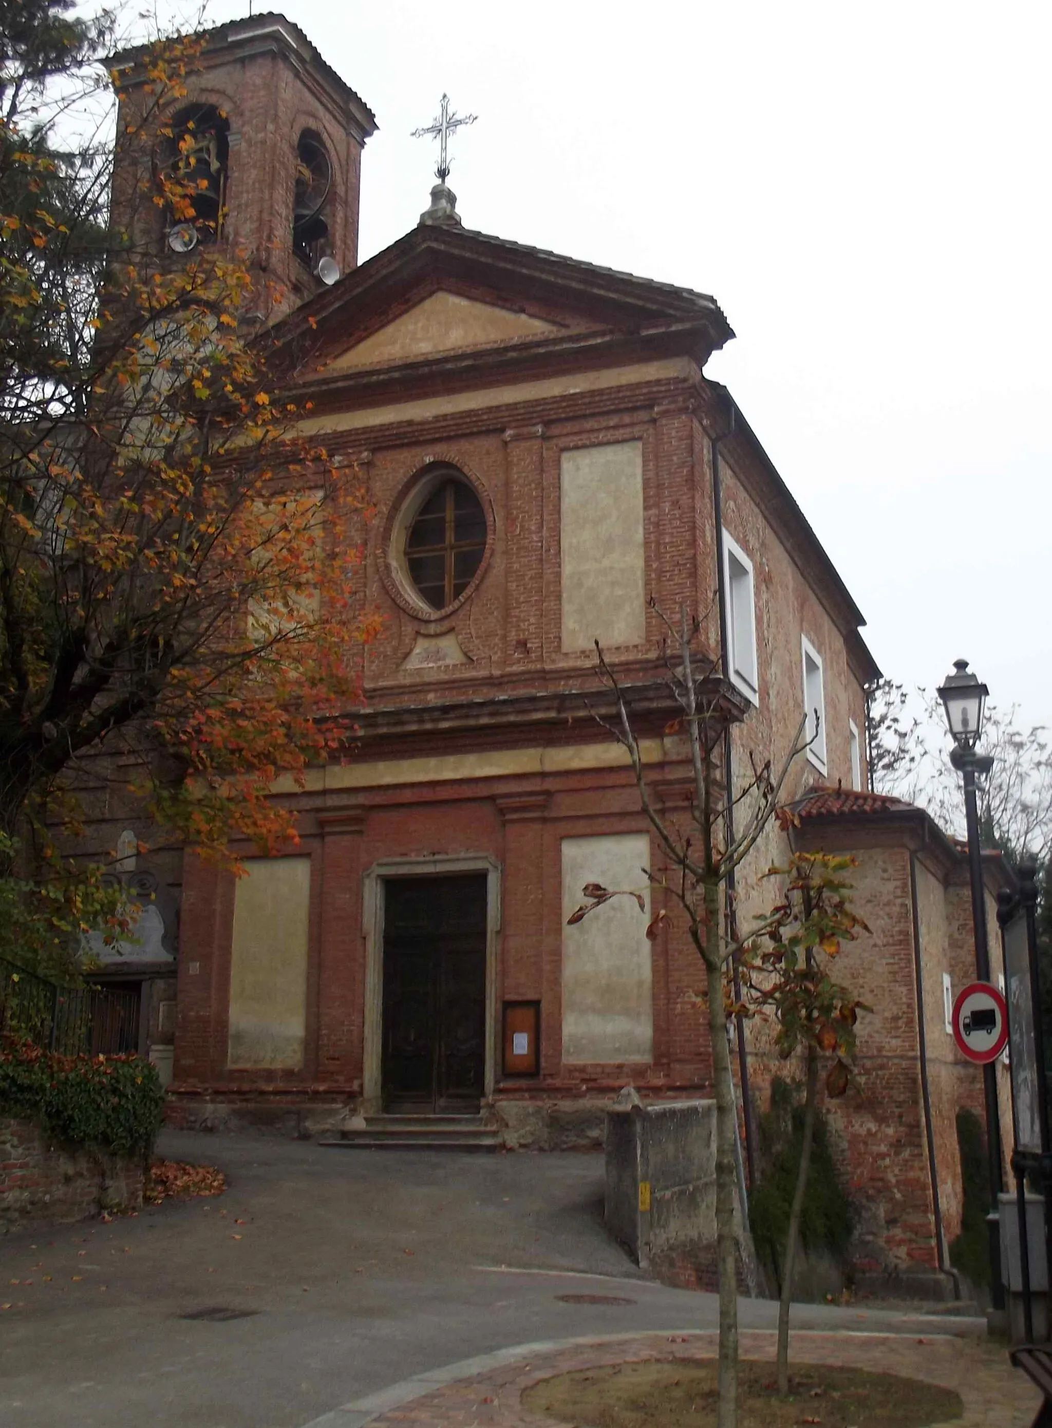
[[[248,858],[234,894],[231,1067],[297,1071],[307,1031],[311,860]]]

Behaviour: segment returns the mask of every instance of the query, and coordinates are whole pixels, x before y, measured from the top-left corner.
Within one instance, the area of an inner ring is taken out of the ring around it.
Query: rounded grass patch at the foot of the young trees
[[[744,1359],[739,1428],[929,1428],[964,1414],[961,1395],[936,1384],[864,1368],[794,1364],[789,1397],[775,1365]],[[582,1428],[709,1428],[717,1421],[715,1359],[649,1359],[560,1374],[522,1394],[532,1412]]]

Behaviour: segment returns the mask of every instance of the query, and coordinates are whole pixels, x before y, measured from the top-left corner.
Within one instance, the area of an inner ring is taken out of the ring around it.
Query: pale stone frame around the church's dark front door
[[[501,865],[488,854],[435,854],[424,858],[381,858],[361,875],[361,934],[365,940],[365,1008],[363,1027],[361,1110],[383,1110],[384,1040],[384,881],[485,874],[485,1067],[482,1097],[492,1095],[497,1072],[497,938],[501,931]]]

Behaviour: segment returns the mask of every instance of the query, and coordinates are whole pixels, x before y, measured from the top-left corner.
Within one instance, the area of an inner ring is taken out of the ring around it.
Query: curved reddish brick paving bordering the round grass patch
[[[739,1338],[742,1358],[774,1359],[772,1329],[745,1329]],[[712,1358],[717,1341],[717,1331],[708,1329],[518,1344],[407,1378],[304,1428],[551,1428],[552,1419],[522,1407],[522,1391],[532,1384],[601,1364]],[[965,1402],[955,1428],[1029,1428],[1041,1402],[1002,1348],[975,1339],[799,1329],[789,1349],[799,1362],[849,1364],[954,1388]]]

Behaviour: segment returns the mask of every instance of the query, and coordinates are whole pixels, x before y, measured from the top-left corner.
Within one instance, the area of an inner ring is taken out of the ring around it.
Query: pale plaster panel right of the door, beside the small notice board
[[[647,941],[649,867],[645,833],[562,840],[562,1061],[651,1061],[654,1000]],[[585,883],[642,892],[611,898],[582,922],[567,918]]]

